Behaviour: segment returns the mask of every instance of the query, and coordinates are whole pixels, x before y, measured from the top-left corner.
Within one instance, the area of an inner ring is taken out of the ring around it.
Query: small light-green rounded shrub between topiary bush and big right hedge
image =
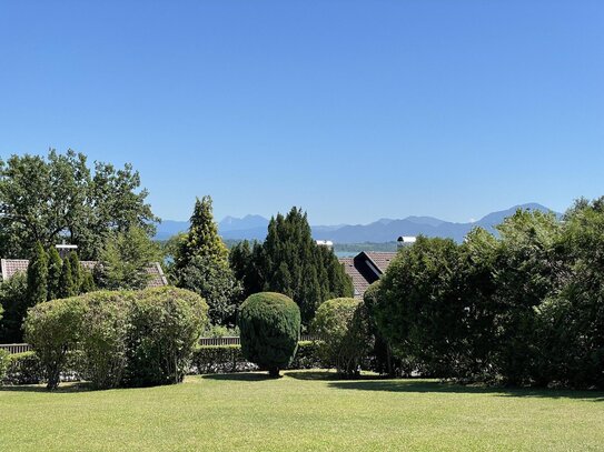
[[[311,328],[319,339],[319,355],[326,363],[345,375],[358,373],[370,342],[367,314],[360,300],[339,298],[326,301],[317,310]]]

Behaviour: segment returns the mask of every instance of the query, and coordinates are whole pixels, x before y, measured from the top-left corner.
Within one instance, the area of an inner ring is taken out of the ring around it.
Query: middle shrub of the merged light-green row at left
[[[83,373],[96,388],[116,388],[126,368],[126,337],[131,294],[91,292],[81,297],[86,304],[79,348]]]

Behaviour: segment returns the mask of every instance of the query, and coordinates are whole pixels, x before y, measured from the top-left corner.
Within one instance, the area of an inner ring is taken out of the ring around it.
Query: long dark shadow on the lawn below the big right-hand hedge
[[[544,399],[583,399],[593,402],[604,402],[602,391],[568,391],[548,389],[511,389],[499,386],[465,386],[455,383],[413,380],[373,380],[373,381],[337,381],[330,382],[330,388],[355,391],[386,391],[408,393],[453,393],[453,394],[493,394],[512,398],[544,398]]]

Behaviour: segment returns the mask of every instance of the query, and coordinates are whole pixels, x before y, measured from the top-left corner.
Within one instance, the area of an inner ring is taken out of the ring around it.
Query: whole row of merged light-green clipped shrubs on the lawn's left
[[[97,388],[176,383],[189,366],[207,310],[199,295],[176,288],[91,292],[31,308],[26,339],[49,389],[67,372],[70,355]]]

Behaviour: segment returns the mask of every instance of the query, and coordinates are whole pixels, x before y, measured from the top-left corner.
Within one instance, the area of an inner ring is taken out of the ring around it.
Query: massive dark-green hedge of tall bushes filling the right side
[[[424,374],[604,386],[604,199],[497,230],[402,250],[372,294],[378,334]]]

